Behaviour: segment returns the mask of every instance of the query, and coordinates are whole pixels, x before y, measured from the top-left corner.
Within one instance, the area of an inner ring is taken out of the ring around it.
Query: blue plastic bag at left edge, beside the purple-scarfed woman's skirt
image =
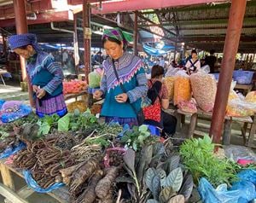
[[[9,123],[14,121],[15,119],[25,117],[30,113],[32,113],[32,107],[21,104],[19,107],[15,106],[14,108],[7,108],[3,111],[1,110],[0,119],[3,123]]]

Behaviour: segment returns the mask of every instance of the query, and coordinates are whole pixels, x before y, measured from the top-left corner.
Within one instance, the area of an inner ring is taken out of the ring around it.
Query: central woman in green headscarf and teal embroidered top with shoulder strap
[[[101,89],[94,93],[96,99],[105,97],[101,115],[107,123],[138,125],[137,113],[148,90],[143,63],[138,56],[125,51],[127,41],[119,28],[105,30],[102,44],[110,57],[102,64]]]

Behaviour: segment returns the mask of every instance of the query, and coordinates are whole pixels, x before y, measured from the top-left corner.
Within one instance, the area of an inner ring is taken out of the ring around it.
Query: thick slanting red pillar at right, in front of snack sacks
[[[240,40],[241,26],[245,14],[246,3],[246,0],[232,0],[230,7],[229,24],[224,44],[224,57],[218,79],[218,90],[212,113],[212,124],[210,130],[210,136],[213,136],[213,142],[215,143],[220,142],[222,134],[225,110],[230,93],[230,84],[236,62],[236,53]]]

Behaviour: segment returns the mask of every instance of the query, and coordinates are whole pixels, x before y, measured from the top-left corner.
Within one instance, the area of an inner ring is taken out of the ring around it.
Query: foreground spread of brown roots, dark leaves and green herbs
[[[238,171],[255,169],[214,156],[208,136],[180,146],[172,137],[151,135],[147,125],[101,123],[89,109],[62,118],[31,114],[1,125],[0,135],[2,152],[26,143],[9,157],[11,167],[30,171],[41,190],[64,183],[68,202],[199,202],[201,177],[214,186],[230,185]]]

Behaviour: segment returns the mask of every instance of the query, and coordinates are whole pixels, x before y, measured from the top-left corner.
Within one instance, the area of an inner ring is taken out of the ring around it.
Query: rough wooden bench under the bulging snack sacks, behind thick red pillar
[[[185,116],[189,116],[190,117],[190,122],[189,122],[189,131],[188,131],[188,138],[192,137],[195,133],[195,127],[197,125],[197,119],[198,117],[201,117],[203,119],[207,119],[207,120],[212,120],[212,113],[206,113],[203,111],[197,111],[197,113],[186,113],[183,112],[180,109],[177,109],[177,131],[180,131],[182,124],[184,123],[184,117]],[[246,134],[245,134],[245,129],[247,129],[247,125],[248,124],[252,124],[252,128],[251,130],[253,131],[253,123],[255,122],[255,119],[252,119],[251,117],[247,116],[247,117],[229,117],[226,116],[224,118],[224,133],[223,133],[223,144],[228,145],[230,144],[230,136],[231,136],[231,125],[232,122],[240,122],[240,123],[244,123],[244,126],[242,129],[244,129],[244,133],[243,131],[241,131],[241,135],[243,136],[243,141],[244,144],[246,145]],[[254,130],[255,131],[255,130]],[[251,144],[251,142],[253,142],[253,136],[249,136],[248,139],[248,143]]]

